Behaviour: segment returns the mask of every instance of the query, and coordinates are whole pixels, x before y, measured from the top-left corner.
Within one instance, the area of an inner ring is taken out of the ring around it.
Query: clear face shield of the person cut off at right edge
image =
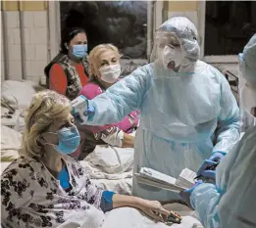
[[[245,85],[239,90],[241,132],[256,126],[256,85],[254,86]]]

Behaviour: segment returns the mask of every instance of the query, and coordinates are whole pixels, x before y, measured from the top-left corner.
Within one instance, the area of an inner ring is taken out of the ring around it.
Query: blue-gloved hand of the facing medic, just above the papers
[[[204,160],[203,164],[198,169],[196,175],[210,178],[213,181],[215,181],[215,177],[216,177],[215,169],[214,170],[209,170],[209,169],[211,169],[212,166],[217,165],[218,162],[220,162],[220,160],[222,160],[223,158],[224,158],[223,154],[219,152],[215,153],[209,160]]]

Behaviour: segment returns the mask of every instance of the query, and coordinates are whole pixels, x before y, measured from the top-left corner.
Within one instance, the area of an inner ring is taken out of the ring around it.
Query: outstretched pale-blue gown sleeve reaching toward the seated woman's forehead
[[[151,76],[148,66],[135,69],[105,93],[89,101],[95,110],[89,125],[104,125],[121,121],[126,115],[140,110]]]

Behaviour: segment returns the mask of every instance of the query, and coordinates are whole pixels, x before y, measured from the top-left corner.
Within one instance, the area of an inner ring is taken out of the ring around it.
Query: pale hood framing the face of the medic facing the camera
[[[193,71],[192,67],[200,57],[200,47],[195,25],[184,17],[172,18],[160,26],[155,34],[151,62],[159,59],[156,54],[158,40],[168,34],[174,35],[179,40],[182,57],[179,71]]]

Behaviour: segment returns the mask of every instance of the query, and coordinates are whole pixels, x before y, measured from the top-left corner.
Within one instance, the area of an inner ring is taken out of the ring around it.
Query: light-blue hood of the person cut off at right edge
[[[245,45],[243,53],[239,55],[239,62],[242,77],[256,83],[256,34]]]

